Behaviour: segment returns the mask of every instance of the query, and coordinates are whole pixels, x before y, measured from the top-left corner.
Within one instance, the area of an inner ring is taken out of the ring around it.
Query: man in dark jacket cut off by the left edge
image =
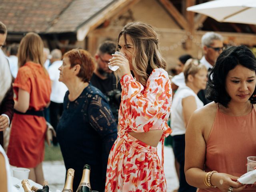
[[[2,52],[2,46],[7,36],[7,28],[5,24],[0,22],[0,51]],[[7,60],[7,58],[6,58]],[[13,100],[13,90],[12,86],[10,90],[6,93],[2,103],[0,103],[0,144],[4,148],[4,134],[3,131],[10,126],[12,121],[14,110],[14,100]]]

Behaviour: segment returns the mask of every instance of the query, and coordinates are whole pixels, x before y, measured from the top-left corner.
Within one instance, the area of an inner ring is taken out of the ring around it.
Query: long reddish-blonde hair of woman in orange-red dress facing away
[[[22,38],[18,49],[19,68],[28,61],[38,63],[44,68],[43,48],[44,43],[38,34],[34,32],[27,33],[26,36]],[[44,71],[46,72],[45,68]]]

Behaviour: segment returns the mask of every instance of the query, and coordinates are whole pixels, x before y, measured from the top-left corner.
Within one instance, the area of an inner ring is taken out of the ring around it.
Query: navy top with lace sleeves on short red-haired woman
[[[73,190],[82,178],[85,164],[91,166],[92,190],[104,191],[108,155],[117,137],[116,122],[106,98],[89,84],[73,102],[64,98],[57,138],[66,170],[75,170]]]

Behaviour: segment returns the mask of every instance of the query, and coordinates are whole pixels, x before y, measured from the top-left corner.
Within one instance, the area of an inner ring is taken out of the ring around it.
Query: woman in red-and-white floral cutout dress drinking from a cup
[[[126,58],[114,54],[109,64],[119,66],[120,130],[108,159],[105,191],[166,192],[163,156],[160,162],[156,146],[171,133],[172,89],[155,30],[141,22],[127,24],[118,50]]]

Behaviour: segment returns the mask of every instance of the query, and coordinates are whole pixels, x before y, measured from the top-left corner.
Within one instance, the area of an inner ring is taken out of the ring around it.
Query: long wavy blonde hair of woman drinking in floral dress
[[[148,77],[156,68],[166,69],[166,62],[158,50],[158,38],[154,28],[142,22],[131,22],[126,24],[118,36],[129,35],[134,44],[132,66],[139,76],[139,82],[146,86]],[[118,50],[118,48],[117,48]]]

